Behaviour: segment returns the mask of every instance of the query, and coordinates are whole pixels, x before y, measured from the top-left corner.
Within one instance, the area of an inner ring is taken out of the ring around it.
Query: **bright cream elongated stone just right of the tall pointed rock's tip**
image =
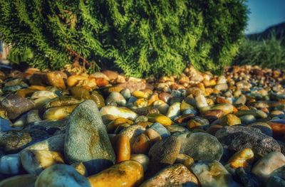
[[[117,119],[123,117],[130,120],[135,120],[138,117],[138,114],[132,110],[125,107],[114,107],[114,106],[105,106],[100,109],[100,115],[102,116],[103,121],[109,119]]]

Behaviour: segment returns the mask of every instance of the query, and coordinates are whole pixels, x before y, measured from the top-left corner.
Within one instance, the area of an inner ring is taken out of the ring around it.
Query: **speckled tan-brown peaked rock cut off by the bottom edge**
[[[199,186],[196,176],[182,164],[173,164],[147,179],[140,187]]]

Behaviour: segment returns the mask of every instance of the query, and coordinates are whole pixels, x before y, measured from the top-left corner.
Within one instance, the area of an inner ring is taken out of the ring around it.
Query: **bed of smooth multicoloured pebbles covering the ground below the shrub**
[[[68,186],[81,186],[79,176],[87,186],[285,183],[284,71],[232,66],[217,76],[190,65],[160,79],[80,71],[0,72],[0,183],[35,186],[25,173],[51,186],[66,185],[63,175]],[[92,105],[75,114],[85,100]],[[41,176],[63,163],[72,169]]]

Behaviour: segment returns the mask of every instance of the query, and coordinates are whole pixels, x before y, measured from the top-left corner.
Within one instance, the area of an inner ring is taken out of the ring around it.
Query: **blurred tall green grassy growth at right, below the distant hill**
[[[271,36],[269,40],[250,41],[244,39],[234,65],[260,65],[263,68],[284,68],[285,46],[281,40]]]

